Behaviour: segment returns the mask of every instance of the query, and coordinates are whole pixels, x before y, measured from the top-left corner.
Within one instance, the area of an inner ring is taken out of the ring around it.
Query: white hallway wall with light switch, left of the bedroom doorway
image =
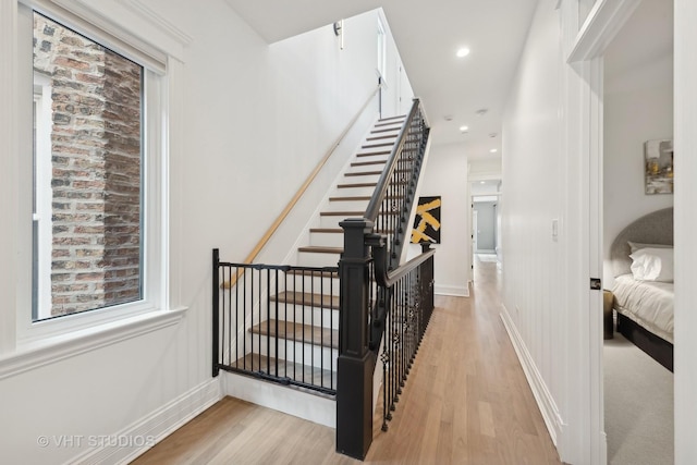
[[[562,315],[564,162],[561,35],[555,2],[540,1],[509,94],[502,129],[502,317],[511,333],[552,440],[564,455],[566,369]],[[577,266],[577,264],[574,264]],[[576,329],[576,331],[580,331]]]

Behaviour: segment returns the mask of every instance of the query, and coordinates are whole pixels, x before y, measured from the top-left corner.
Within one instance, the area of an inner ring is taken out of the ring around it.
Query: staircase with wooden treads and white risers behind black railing
[[[296,267],[274,267],[270,272],[246,269],[234,286],[235,294],[228,297],[228,304],[255,298],[260,303],[248,319],[245,316],[236,325],[245,333],[222,330],[223,345],[233,347],[223,369],[296,389],[228,375],[227,394],[334,426],[340,319],[337,267],[344,240],[339,223],[364,217],[404,120],[395,117],[375,123],[314,221],[308,244],[298,247]],[[223,276],[223,282],[241,276],[240,269]],[[268,297],[262,297],[262,289],[268,290]]]

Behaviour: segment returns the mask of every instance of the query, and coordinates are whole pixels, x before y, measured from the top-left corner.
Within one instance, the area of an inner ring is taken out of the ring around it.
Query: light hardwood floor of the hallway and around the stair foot
[[[496,264],[479,262],[470,297],[437,296],[394,419],[367,464],[559,464],[499,317]],[[134,464],[353,464],[334,430],[225,397]]]

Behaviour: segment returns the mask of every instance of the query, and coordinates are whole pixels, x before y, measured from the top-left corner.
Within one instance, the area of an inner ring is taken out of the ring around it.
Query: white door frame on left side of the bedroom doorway
[[[567,164],[567,173],[578,170],[579,197],[568,196],[566,212],[571,217],[574,200],[578,215],[570,221],[580,227],[582,245],[576,253],[567,250],[567,260],[580,258],[576,270],[585,290],[568,285],[571,295],[580,297],[579,316],[574,323],[588,328],[580,334],[582,352],[578,353],[580,380],[585,380],[587,391],[570,387],[570,394],[579,399],[576,411],[580,436],[588,439],[588,448],[580,448],[579,457],[586,463],[607,463],[607,435],[604,432],[604,392],[602,363],[602,294],[590,290],[589,279],[602,277],[602,231],[603,231],[603,53],[641,0],[598,0],[580,28],[577,2],[562,3],[562,25],[564,27],[564,52],[566,63],[566,134],[563,143],[568,149],[578,150]],[[576,162],[577,164],[574,166]],[[570,218],[571,219],[571,218]],[[580,256],[578,256],[580,253]],[[571,267],[570,267],[571,269]],[[573,276],[573,273],[571,274]],[[571,318],[571,317],[570,317]],[[574,327],[568,321],[567,328]],[[578,328],[578,327],[576,327]],[[570,355],[573,353],[570,348]],[[585,376],[584,376],[585,375]],[[583,386],[583,384],[582,384]],[[573,390],[576,390],[572,393]],[[585,392],[584,392],[585,391]],[[585,411],[585,412],[584,412]],[[586,432],[583,429],[588,428]],[[571,444],[570,444],[571,445]]]

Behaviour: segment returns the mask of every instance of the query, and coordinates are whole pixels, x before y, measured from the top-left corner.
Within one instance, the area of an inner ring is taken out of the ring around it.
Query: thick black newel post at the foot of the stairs
[[[368,285],[370,262],[365,234],[367,219],[347,219],[341,274],[339,360],[337,362],[337,452],[363,460],[372,442],[372,372],[375,354],[368,350]]]

